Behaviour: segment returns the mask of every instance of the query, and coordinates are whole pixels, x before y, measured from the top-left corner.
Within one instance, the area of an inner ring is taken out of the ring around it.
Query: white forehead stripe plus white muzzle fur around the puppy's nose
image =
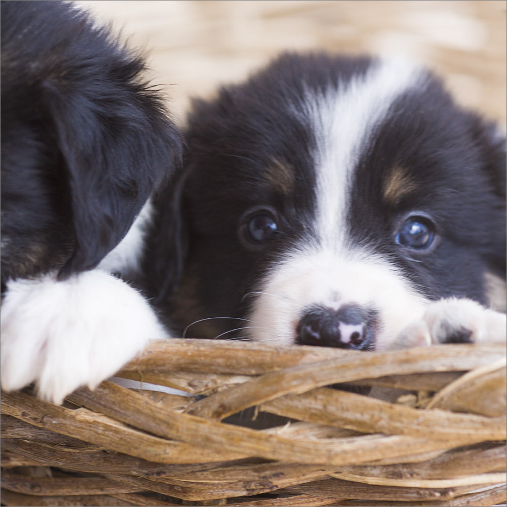
[[[294,344],[306,308],[321,304],[338,309],[357,304],[378,311],[377,348],[388,348],[426,303],[388,260],[347,244],[345,218],[352,173],[376,127],[405,91],[421,83],[419,68],[397,60],[379,61],[364,75],[329,87],[321,95],[308,91],[298,112],[310,120],[316,149],[315,223],[318,237],[304,238],[287,251],[262,280],[252,302],[251,336]],[[357,329],[344,329],[348,339]]]

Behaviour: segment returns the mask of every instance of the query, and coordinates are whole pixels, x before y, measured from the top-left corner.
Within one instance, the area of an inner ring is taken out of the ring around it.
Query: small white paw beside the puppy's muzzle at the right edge
[[[397,337],[393,348],[437,343],[507,341],[507,316],[470,299],[449,298],[430,303],[422,319]]]

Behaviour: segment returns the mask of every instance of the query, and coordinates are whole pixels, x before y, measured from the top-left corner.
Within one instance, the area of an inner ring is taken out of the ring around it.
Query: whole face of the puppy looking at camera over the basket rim
[[[188,336],[381,349],[504,268],[504,144],[424,71],[287,55],[190,127]]]

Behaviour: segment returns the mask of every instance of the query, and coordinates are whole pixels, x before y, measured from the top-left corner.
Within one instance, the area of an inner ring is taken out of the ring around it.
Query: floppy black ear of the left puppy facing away
[[[138,82],[141,58],[123,59],[104,76],[90,68],[42,84],[75,232],[61,279],[94,268],[121,241],[181,156],[180,135],[161,98]]]

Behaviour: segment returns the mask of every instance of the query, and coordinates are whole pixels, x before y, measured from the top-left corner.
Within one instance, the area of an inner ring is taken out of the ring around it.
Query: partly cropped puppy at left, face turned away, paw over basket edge
[[[69,3],[2,2],[6,390],[36,381],[59,403],[166,336],[146,300],[109,274],[136,269],[129,245],[141,241],[145,203],[180,159],[145,70]]]

